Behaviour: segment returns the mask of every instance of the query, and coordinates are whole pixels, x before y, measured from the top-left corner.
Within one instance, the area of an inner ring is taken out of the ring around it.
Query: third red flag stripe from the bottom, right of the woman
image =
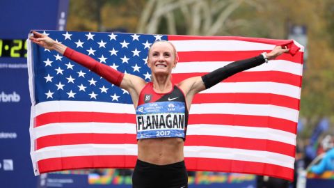
[[[268,127],[296,134],[297,123],[291,120],[269,116],[248,116],[231,114],[189,114],[188,125],[242,125],[248,127]]]

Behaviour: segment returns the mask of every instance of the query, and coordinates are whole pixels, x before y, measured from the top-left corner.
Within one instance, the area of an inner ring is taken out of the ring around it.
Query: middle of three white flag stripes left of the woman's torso
[[[35,127],[33,139],[54,134],[100,133],[100,134],[136,134],[134,123],[49,123]]]

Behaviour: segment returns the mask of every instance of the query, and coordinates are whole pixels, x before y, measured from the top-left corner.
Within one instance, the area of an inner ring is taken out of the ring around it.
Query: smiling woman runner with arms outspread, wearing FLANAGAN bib
[[[183,150],[193,96],[237,72],[289,52],[289,49],[275,47],[268,54],[236,61],[202,77],[191,77],[179,84],[172,84],[171,72],[177,64],[177,52],[172,43],[158,41],[154,42],[148,52],[152,81],[146,83],[141,77],[113,70],[41,33],[33,31],[30,39],[42,47],[56,50],[129,91],[136,109],[138,139],[133,187],[187,187]]]

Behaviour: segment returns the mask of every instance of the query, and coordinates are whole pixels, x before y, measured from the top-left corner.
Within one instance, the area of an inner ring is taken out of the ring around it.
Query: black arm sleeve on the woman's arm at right
[[[228,65],[225,65],[222,68],[218,68],[213,72],[209,72],[206,75],[202,76],[202,81],[205,84],[205,88],[211,88],[212,86],[218,84],[237,72],[248,70],[254,68],[257,65],[264,63],[264,57],[262,55],[255,56],[253,58],[247,58],[240,61],[234,61]]]

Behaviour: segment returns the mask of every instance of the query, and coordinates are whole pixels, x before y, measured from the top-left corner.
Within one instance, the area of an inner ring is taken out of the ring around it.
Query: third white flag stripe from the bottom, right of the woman
[[[298,122],[299,111],[286,107],[278,107],[270,104],[234,104],[234,103],[207,103],[207,104],[191,104],[189,114],[204,113],[223,113],[223,114],[239,114],[250,116],[270,116],[292,120]]]

